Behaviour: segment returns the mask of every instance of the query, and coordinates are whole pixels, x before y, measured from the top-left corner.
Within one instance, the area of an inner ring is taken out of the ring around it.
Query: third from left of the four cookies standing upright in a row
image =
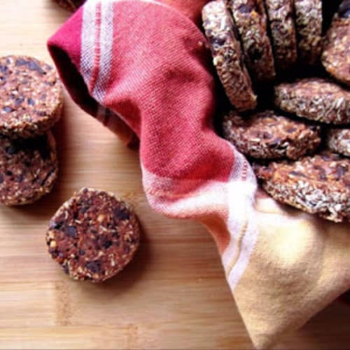
[[[293,0],[265,0],[276,69],[290,69],[297,61]]]

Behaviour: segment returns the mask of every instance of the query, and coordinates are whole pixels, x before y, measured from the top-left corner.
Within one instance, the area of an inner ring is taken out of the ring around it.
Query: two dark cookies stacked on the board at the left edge
[[[32,57],[0,58],[0,202],[35,202],[57,179],[50,129],[62,111],[62,85],[52,66]]]

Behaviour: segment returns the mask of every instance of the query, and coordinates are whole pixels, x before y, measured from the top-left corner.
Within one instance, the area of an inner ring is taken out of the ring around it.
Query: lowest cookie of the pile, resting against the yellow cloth
[[[254,165],[275,200],[330,221],[350,221],[350,160],[323,152],[296,162]]]

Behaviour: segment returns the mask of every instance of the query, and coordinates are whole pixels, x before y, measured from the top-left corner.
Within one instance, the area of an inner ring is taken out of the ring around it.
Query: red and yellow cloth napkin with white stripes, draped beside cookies
[[[151,207],[211,232],[262,349],[350,288],[350,232],[257,191],[244,156],[214,132],[205,2],[88,0],[48,48],[73,100],[125,144],[139,139]]]

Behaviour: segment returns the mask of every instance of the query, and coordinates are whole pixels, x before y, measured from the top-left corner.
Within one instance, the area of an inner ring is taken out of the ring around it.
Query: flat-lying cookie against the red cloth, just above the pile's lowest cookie
[[[278,116],[273,111],[242,118],[231,111],[223,120],[224,137],[238,151],[259,159],[297,159],[321,142],[320,127]]]

